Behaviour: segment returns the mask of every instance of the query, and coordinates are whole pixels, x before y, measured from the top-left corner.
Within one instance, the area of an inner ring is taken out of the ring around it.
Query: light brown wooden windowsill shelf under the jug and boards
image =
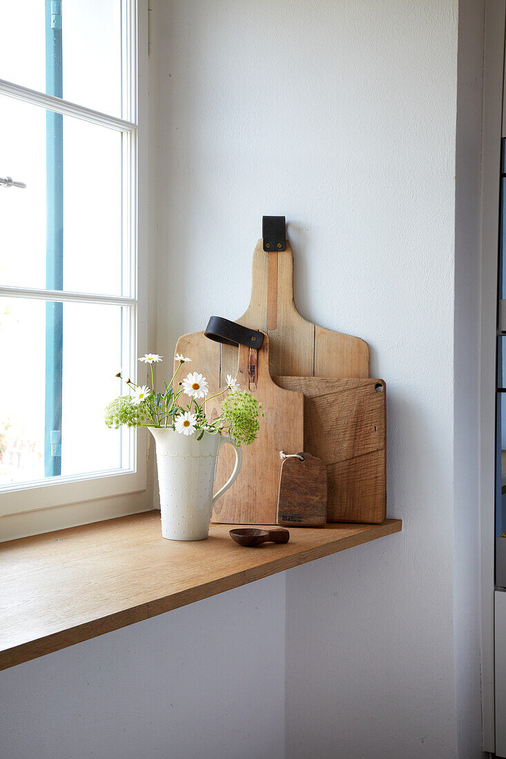
[[[232,524],[192,543],[163,540],[160,512],[0,544],[0,669],[330,553],[399,532],[402,522],[290,528],[286,545],[242,548]]]

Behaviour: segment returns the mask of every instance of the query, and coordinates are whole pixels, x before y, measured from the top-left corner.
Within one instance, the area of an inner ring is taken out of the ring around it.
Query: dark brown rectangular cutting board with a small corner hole
[[[386,387],[382,379],[274,377],[304,393],[304,450],[327,466],[327,521],[386,517]]]

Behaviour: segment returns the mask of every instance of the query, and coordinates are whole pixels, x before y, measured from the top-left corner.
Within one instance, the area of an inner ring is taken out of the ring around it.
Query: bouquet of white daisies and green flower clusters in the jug
[[[123,424],[127,427],[163,427],[172,429],[182,435],[196,434],[201,440],[204,433],[211,435],[230,435],[238,446],[248,446],[255,440],[260,422],[264,416],[261,404],[248,391],[241,391],[236,377],[226,376],[226,388],[207,397],[209,385],[207,379],[198,372],[190,372],[178,389],[174,390],[176,375],[183,364],[191,361],[181,354],[176,354],[176,371],[169,383],[163,383],[163,392],[155,392],[146,385],[137,385],[131,379],[124,379],[122,373],[116,376],[122,379],[130,389],[129,395],[120,395],[106,406],[106,426],[118,429]],[[139,358],[144,364],[150,364],[151,385],[154,388],[153,364],[162,361],[158,354],[147,353]],[[182,395],[190,399],[181,405]],[[207,417],[204,404],[212,398],[224,395],[221,413],[212,420]]]

